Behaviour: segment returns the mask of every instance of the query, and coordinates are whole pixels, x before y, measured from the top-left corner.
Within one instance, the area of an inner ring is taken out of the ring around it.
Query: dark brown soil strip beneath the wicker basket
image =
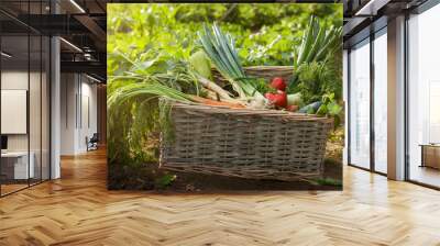
[[[136,171],[116,170],[112,168],[109,179],[110,189],[142,189],[155,190],[158,192],[189,192],[189,193],[218,193],[229,191],[264,191],[264,190],[342,190],[341,186],[316,185],[307,181],[279,181],[279,180],[256,180],[235,177],[223,177],[216,175],[174,172],[157,168],[157,164],[145,164]],[[130,174],[132,172],[132,174]],[[120,177],[117,174],[124,174]],[[157,188],[154,178],[165,174],[175,175],[176,179],[166,188]],[[128,179],[127,177],[131,177]],[[324,161],[324,178],[342,180],[342,167],[338,161]],[[131,181],[129,181],[131,180]]]

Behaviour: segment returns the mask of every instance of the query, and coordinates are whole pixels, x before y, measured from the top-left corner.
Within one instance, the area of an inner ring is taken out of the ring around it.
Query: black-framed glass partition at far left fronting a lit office
[[[20,2],[21,13],[44,11],[43,1],[28,4]],[[2,197],[50,178],[51,43],[11,16],[0,13],[0,21],[9,23],[0,24]]]

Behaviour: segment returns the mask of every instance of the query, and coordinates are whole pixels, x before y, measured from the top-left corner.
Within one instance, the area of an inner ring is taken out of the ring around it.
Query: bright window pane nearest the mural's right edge
[[[350,164],[370,168],[370,44],[350,53]]]

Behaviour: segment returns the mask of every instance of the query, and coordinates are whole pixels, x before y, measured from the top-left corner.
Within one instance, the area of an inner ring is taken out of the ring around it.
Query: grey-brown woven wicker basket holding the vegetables
[[[315,115],[185,103],[173,103],[172,119],[174,137],[161,142],[161,167],[253,179],[321,177],[332,127],[331,119]]]

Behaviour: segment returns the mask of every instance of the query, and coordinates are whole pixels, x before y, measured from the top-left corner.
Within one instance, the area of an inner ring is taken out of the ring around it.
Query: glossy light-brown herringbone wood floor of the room
[[[0,199],[0,245],[440,245],[440,192],[345,167],[344,191],[107,191],[103,152]]]

